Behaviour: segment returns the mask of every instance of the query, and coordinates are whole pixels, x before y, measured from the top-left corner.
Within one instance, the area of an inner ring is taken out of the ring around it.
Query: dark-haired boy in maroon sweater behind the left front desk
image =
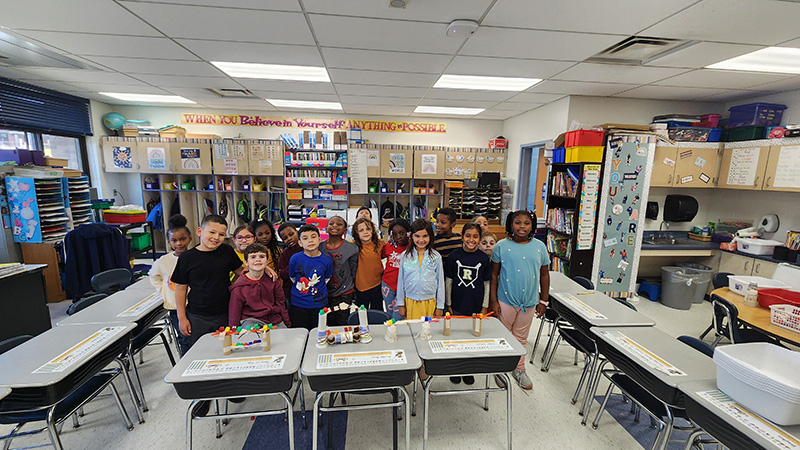
[[[259,243],[250,244],[244,249],[244,259],[248,271],[230,287],[228,325],[235,327],[241,324],[242,319],[258,319],[273,325],[283,322],[291,327],[280,282],[264,276],[267,248]]]

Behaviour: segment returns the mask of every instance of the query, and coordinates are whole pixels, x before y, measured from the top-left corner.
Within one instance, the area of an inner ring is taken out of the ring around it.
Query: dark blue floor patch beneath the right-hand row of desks
[[[590,417],[588,418],[590,423],[597,416],[597,408],[599,408],[599,405],[603,404],[602,395],[598,395],[594,399],[597,401],[597,405],[595,405],[591,411]],[[656,434],[658,434],[658,425],[655,427],[650,426],[650,416],[644,411],[642,411],[639,416],[639,422],[634,422],[633,419],[636,417],[636,415],[631,414],[630,402],[625,403],[622,401],[622,394],[611,394],[611,398],[608,399],[608,404],[606,405],[606,410],[603,414],[611,414],[611,416],[614,417],[614,420],[622,425],[622,428],[624,428],[628,434],[636,439],[636,442],[638,442],[643,448],[649,449],[653,445],[653,441],[656,439]],[[683,419],[675,419],[675,422],[678,426],[689,425],[689,423]],[[602,417],[599,426],[603,426]],[[672,435],[670,436],[667,450],[683,450],[683,448],[686,446],[686,440],[689,439],[689,434],[690,433],[688,431],[672,430]],[[703,438],[708,438],[708,436],[704,436]],[[704,447],[706,450],[716,449],[716,445],[707,444]]]

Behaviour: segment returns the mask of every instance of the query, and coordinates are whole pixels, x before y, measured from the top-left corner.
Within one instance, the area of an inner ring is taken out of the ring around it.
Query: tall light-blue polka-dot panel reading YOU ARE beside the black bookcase
[[[655,143],[655,136],[614,134],[606,145],[592,282],[612,297],[635,292]]]

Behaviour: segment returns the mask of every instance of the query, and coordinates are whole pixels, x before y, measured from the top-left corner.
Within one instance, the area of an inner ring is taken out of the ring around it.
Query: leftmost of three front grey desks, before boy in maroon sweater
[[[186,448],[192,448],[192,421],[215,420],[217,437],[222,436],[221,419],[269,416],[287,413],[289,421],[289,448],[294,449],[294,421],[292,399],[287,392],[294,384],[300,368],[303,347],[308,333],[304,329],[275,329],[270,333],[271,349],[261,350],[259,345],[236,350],[230,355],[222,353],[222,339],[206,334],[183,355],[169,371],[164,381],[172,384],[178,396],[191,400],[186,410]],[[254,335],[242,340],[251,341]],[[233,339],[234,344],[236,338]],[[302,386],[299,387],[302,389]],[[277,395],[286,403],[278,410],[219,413],[218,400],[231,397],[256,397]],[[194,417],[192,409],[198,401],[214,400],[215,413]]]

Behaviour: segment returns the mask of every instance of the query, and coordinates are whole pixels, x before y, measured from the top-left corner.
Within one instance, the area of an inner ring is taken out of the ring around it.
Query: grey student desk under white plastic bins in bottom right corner
[[[731,449],[785,450],[800,447],[800,425],[782,427],[757,416],[717,389],[715,380],[679,384],[686,412],[703,429],[687,440],[709,434]]]

